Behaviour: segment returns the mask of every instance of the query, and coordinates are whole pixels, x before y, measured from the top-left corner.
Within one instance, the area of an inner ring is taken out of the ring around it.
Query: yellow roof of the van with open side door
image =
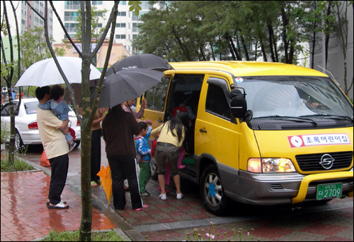
[[[226,71],[237,76],[258,76],[258,75],[307,75],[307,76],[328,76],[320,71],[302,66],[295,66],[278,62],[258,61],[185,61],[169,62],[178,71],[182,70],[207,70]],[[173,70],[172,70],[173,71]],[[169,71],[166,71],[169,73]]]

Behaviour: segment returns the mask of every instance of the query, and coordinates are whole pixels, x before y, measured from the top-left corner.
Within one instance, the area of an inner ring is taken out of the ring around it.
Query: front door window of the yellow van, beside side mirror
[[[231,119],[229,102],[227,102],[224,91],[219,85],[209,83],[205,110],[212,114],[217,114],[217,116]]]

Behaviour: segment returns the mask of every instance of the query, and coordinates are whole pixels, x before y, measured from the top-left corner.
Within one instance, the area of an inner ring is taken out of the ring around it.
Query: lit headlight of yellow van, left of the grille
[[[295,172],[290,159],[286,158],[250,158],[247,162],[247,171],[255,173],[282,173]]]

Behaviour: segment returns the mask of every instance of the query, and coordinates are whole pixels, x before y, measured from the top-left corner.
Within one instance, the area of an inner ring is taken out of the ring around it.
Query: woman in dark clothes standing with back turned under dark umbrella
[[[140,198],[137,167],[135,163],[136,150],[133,135],[138,135],[142,128],[134,116],[122,109],[122,104],[112,107],[102,122],[102,134],[105,140],[105,153],[112,174],[113,205],[115,210],[124,210],[126,200],[123,180],[126,177],[132,198],[132,208],[144,210]]]

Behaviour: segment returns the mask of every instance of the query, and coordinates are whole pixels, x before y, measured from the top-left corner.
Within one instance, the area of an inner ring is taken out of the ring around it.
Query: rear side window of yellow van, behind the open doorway
[[[145,92],[145,99],[147,99],[147,108],[164,111],[165,95],[169,85],[169,77],[163,77],[161,83],[155,85]]]

